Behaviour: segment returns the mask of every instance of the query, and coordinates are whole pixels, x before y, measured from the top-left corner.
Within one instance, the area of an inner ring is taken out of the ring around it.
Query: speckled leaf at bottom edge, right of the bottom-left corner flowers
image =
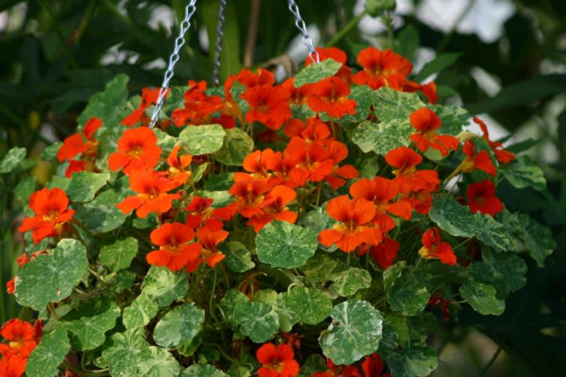
[[[34,377],[57,376],[58,367],[71,349],[67,332],[61,327],[43,334],[37,347],[33,349],[25,366],[25,373]]]

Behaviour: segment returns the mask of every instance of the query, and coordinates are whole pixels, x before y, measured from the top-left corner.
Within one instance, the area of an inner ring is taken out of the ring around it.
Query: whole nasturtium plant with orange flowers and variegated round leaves
[[[395,45],[412,56],[408,33]],[[173,86],[155,127],[159,88],[129,93],[120,74],[94,95],[42,153],[57,175],[16,186],[28,245],[6,288],[40,320],[2,327],[1,362],[30,376],[427,376],[437,315],[501,315],[556,245],[497,189],[541,190],[540,168],[438,103],[400,54],[367,47],[347,66],[317,50],[282,83],[243,69]],[[0,173],[26,154],[8,151]]]

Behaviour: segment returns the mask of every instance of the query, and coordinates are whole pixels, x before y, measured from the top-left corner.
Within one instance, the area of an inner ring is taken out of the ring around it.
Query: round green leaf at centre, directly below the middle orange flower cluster
[[[318,246],[316,233],[287,221],[272,221],[255,239],[258,259],[272,267],[295,268],[305,264]]]

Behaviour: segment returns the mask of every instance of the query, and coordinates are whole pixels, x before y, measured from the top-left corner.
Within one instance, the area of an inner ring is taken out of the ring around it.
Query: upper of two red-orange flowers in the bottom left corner
[[[0,328],[0,336],[8,341],[0,343],[0,355],[7,359],[16,355],[27,361],[30,353],[40,342],[42,331],[42,320],[35,320],[33,326],[19,318],[8,320]]]

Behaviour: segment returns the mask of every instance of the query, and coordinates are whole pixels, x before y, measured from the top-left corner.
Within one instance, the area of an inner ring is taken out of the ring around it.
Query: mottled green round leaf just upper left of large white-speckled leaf
[[[332,300],[320,289],[295,286],[286,298],[285,303],[291,311],[308,325],[322,322],[332,311]]]

